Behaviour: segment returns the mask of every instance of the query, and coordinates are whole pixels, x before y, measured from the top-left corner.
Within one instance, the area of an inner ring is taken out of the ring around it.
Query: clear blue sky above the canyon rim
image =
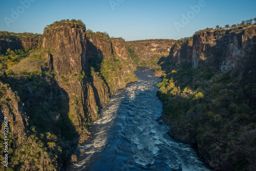
[[[26,8],[20,2],[26,2]],[[190,6],[201,7],[193,11]],[[0,0],[0,31],[42,34],[56,20],[74,18],[87,29],[125,40],[179,39],[206,27],[254,18],[255,7],[255,0]],[[177,29],[175,23],[182,27]]]

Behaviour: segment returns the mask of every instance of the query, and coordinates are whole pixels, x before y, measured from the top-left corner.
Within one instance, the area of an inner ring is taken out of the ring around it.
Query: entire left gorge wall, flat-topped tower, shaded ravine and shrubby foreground
[[[3,41],[2,47],[25,48],[16,42]],[[8,68],[0,75],[16,92],[9,95],[4,88],[3,97],[20,99],[1,103],[1,122],[9,118],[13,135],[9,167],[17,170],[60,170],[69,163],[72,147],[90,137],[101,106],[137,80],[124,40],[99,32],[87,35],[81,23],[55,22],[45,28],[39,44],[17,64],[5,61]]]

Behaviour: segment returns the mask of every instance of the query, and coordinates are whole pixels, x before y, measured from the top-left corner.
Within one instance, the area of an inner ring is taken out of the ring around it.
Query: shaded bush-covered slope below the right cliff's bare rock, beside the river
[[[255,113],[253,93],[248,94],[254,91],[252,84],[236,72],[193,69],[183,63],[158,83],[164,108],[159,120],[171,125],[167,134],[175,140],[198,144],[199,154],[214,169],[253,170]]]

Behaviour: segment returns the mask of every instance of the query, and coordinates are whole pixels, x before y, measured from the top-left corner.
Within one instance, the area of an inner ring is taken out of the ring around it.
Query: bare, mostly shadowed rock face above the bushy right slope
[[[208,60],[208,65],[223,72],[229,69],[237,71],[255,49],[255,30],[256,26],[250,26],[199,33],[193,36],[193,44],[191,40],[185,40],[181,46],[175,45],[168,60],[176,66],[182,61],[189,61],[193,63],[193,68]]]

